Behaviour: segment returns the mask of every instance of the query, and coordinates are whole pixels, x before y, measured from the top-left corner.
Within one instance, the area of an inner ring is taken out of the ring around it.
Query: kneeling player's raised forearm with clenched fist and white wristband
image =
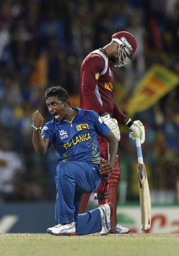
[[[49,139],[46,137],[42,139],[40,130],[41,130],[41,126],[44,121],[44,118],[38,112],[38,110],[33,114],[32,121],[33,121],[33,127],[34,127],[32,142],[35,148],[35,152],[38,155],[44,155],[50,146],[50,142],[49,142]]]

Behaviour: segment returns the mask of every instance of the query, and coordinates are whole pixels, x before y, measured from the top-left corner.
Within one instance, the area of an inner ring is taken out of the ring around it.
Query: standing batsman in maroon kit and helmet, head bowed
[[[132,121],[118,108],[113,100],[113,69],[127,64],[127,60],[134,60],[137,42],[134,36],[128,32],[117,32],[112,36],[112,41],[103,48],[94,50],[84,59],[80,73],[80,107],[96,111],[105,124],[110,128],[117,140],[120,140],[118,124],[127,126],[141,143],[145,141],[145,130],[142,123]],[[105,138],[98,136],[101,157],[108,161],[108,142]],[[128,228],[117,225],[117,186],[120,181],[121,169],[118,156],[113,166],[113,173],[108,178],[102,175],[102,181],[98,186],[98,205],[107,202],[113,203],[114,214],[111,221],[111,233],[129,233]],[[79,213],[86,210],[89,194],[82,196]]]

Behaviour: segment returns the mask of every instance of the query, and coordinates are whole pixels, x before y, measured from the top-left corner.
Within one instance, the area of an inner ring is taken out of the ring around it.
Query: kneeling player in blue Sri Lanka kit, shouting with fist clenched
[[[87,235],[110,232],[113,205],[78,215],[83,193],[92,193],[101,182],[101,174],[109,176],[117,154],[118,141],[94,111],[70,106],[62,87],[50,87],[45,93],[46,105],[53,119],[42,129],[44,118],[38,110],[33,114],[33,144],[44,155],[51,144],[59,161],[57,165],[55,226],[47,229],[53,235]],[[109,161],[100,168],[101,157],[97,134],[109,143]]]

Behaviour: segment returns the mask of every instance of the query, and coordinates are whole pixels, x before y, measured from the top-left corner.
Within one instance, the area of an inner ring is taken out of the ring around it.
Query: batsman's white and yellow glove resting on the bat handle
[[[129,134],[129,138],[135,138],[135,134],[138,138],[140,138],[141,140],[141,144],[144,143],[145,141],[145,128],[143,126],[143,124],[141,123],[141,121],[137,120],[137,121],[132,121],[131,119],[129,119],[125,125],[132,130],[133,132],[131,132]]]

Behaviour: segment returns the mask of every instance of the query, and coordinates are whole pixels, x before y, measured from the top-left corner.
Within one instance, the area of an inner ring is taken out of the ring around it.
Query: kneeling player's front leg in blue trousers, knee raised
[[[57,167],[56,177],[56,223],[62,224],[76,221],[74,217],[77,217],[79,206],[75,209],[74,202],[77,203],[75,192],[92,193],[100,181],[101,177],[98,169],[93,168],[86,162],[61,162]],[[78,200],[79,197],[81,200],[81,195],[78,194]]]

